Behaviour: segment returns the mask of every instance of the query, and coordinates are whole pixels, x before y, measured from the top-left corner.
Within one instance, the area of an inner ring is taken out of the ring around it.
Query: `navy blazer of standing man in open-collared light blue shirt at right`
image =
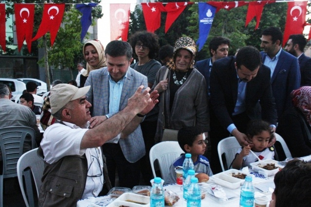
[[[264,63],[267,53],[260,52]],[[271,78],[272,91],[275,98],[277,117],[291,108],[291,92],[300,86],[298,59],[288,52],[281,51]]]

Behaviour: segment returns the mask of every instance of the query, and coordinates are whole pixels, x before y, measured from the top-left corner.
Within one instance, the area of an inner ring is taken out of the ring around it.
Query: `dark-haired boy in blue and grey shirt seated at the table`
[[[178,143],[185,153],[191,154],[191,159],[194,164],[194,171],[196,173],[206,173],[212,176],[212,170],[209,165],[208,159],[203,156],[206,148],[205,137],[203,138],[203,131],[197,126],[183,127],[178,132]],[[166,184],[176,183],[175,167],[183,166],[185,154],[182,154],[173,161],[169,169],[168,180]]]

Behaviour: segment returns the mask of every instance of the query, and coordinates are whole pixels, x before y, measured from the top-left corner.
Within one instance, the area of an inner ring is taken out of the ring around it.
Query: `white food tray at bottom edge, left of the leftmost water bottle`
[[[133,202],[129,202],[129,200]],[[134,202],[139,202],[139,203],[144,203],[144,204],[138,204]],[[150,197],[126,192],[120,195],[107,207],[119,207],[122,205],[128,206],[128,207],[150,207]]]

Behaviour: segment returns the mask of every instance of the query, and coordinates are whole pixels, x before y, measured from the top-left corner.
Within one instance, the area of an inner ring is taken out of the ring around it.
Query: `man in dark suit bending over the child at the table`
[[[213,172],[220,172],[218,142],[230,134],[241,146],[253,146],[244,134],[247,123],[262,119],[275,130],[277,115],[270,83],[270,69],[261,63],[259,51],[243,47],[237,57],[229,56],[213,64],[210,75],[210,118]],[[275,138],[269,142],[272,146]]]

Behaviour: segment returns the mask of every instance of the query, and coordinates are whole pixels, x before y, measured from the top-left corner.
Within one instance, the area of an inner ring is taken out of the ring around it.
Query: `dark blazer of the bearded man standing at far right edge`
[[[311,86],[311,58],[302,53],[298,62],[301,75],[300,86]]]

